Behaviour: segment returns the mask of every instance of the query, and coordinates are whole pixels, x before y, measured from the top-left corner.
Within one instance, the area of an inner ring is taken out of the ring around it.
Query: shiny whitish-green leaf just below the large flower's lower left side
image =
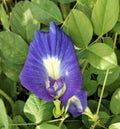
[[[37,96],[31,94],[25,103],[24,113],[26,117],[35,123],[50,120],[52,114],[53,103],[40,100]]]

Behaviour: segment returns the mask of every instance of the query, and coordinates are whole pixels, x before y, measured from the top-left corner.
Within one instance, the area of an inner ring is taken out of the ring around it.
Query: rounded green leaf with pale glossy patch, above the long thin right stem
[[[111,47],[96,43],[87,48],[87,60],[97,69],[106,70],[117,66],[117,58]]]

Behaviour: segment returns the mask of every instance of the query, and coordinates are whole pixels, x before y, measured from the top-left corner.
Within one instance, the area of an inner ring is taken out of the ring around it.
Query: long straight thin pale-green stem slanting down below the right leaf
[[[102,86],[102,90],[101,90],[101,94],[100,94],[100,99],[99,99],[96,115],[98,115],[99,110],[100,110],[100,105],[101,105],[101,101],[102,101],[102,97],[103,97],[103,93],[104,93],[104,89],[105,89],[108,74],[109,74],[109,69],[107,69],[107,71],[106,71],[106,75],[105,75],[105,79],[104,79],[104,82],[103,82],[103,86]]]

